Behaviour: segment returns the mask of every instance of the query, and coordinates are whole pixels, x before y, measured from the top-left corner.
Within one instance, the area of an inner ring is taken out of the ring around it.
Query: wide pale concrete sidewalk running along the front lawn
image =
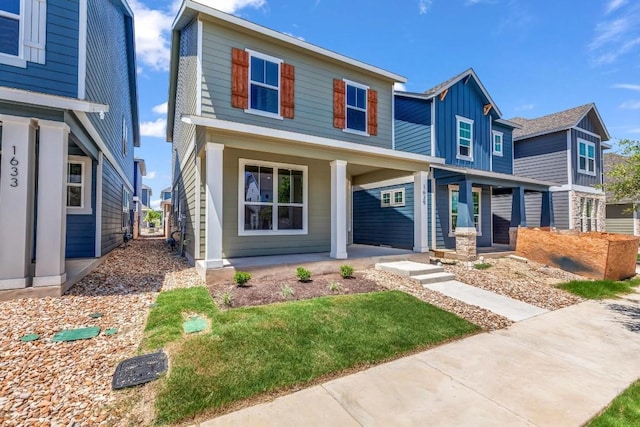
[[[579,426],[640,377],[640,304],[588,301],[200,426]]]

